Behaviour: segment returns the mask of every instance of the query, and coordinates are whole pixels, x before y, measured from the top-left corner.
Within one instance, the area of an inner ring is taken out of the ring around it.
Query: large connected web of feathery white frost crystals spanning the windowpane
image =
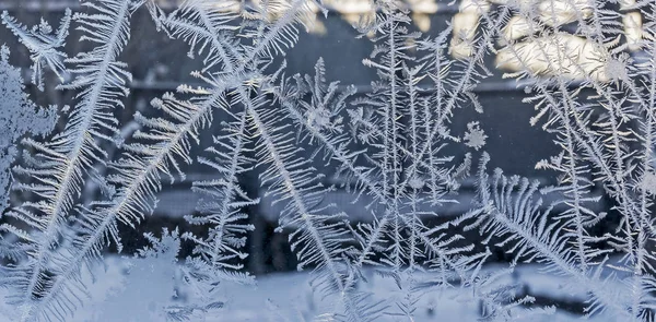
[[[565,293],[583,289],[587,318],[656,319],[653,1],[612,8],[466,0],[453,24],[431,37],[414,31],[405,2],[374,1],[355,25],[356,37],[373,44],[362,59],[376,75],[368,93],[349,80],[327,80],[324,59],[311,74],[286,73],[283,57],[329,4],[186,0],[171,10],[150,0],[85,0],[79,12],[65,12],[57,31],[45,21],[27,28],[4,12],[4,25],[32,52],[33,83],[75,93],[62,130],[44,135],[55,111],[30,103],[2,49],[0,93],[9,99],[0,118],[7,129],[0,184],[9,184],[14,142],[27,132],[45,136],[20,145],[25,151],[13,187],[31,196],[12,202],[0,226],[7,317],[67,321],[79,312],[102,279],[106,249],[122,250],[121,229],[138,228],[164,184],[198,165],[216,177],[194,182],[202,199],[185,219],[207,231],[147,232],[152,248],[132,259],[125,287],[149,288],[157,274],[167,283],[113,319],[223,317],[230,301],[215,295],[221,283],[253,282],[244,261],[255,226],[246,210],[256,205],[279,210],[276,231],[288,234],[297,270],[312,273],[309,285],[321,298],[313,320],[414,321],[426,295],[452,289],[484,321],[554,313],[557,307],[508,282],[525,263],[567,278]],[[130,126],[117,118],[132,82],[120,59],[139,10],[189,47],[189,58],[202,65],[191,75],[202,85],[180,84],[153,99]],[[89,46],[69,56],[71,23]],[[464,133],[454,126],[462,109],[490,112],[477,90],[497,73],[487,63],[492,55],[535,107],[530,124],[540,124],[559,150],[536,165],[557,174],[553,182],[501,169],[490,175],[491,156],[478,152],[494,140],[485,124],[467,120]],[[58,84],[42,82],[46,64]],[[210,147],[192,155],[211,129]],[[106,144],[120,153],[109,155]],[[473,151],[458,155],[458,148]],[[243,187],[246,175],[257,176],[263,195]],[[476,193],[468,211],[447,217],[470,181]],[[85,201],[85,187],[98,183],[107,193]],[[350,206],[330,202],[338,191]],[[597,206],[602,199],[608,210]],[[480,238],[468,238],[472,232]],[[194,245],[185,261],[177,259],[181,242]],[[494,253],[508,263],[493,265]],[[393,288],[371,287],[370,272]],[[187,301],[174,291],[178,286],[190,293]],[[125,297],[108,299],[108,310],[125,309]]]

